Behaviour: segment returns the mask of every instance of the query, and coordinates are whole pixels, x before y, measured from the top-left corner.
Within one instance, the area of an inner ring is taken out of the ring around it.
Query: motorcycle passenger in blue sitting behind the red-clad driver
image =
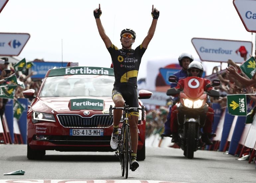
[[[182,53],[179,58],[179,64],[180,66],[182,67],[182,70],[174,73],[173,75],[175,75],[177,77],[177,81],[179,81],[180,79],[184,79],[184,78],[187,78],[188,77],[188,72],[187,72],[187,69],[188,69],[188,66],[189,64],[194,60],[193,56],[189,53]],[[174,88],[177,86],[177,83],[171,83],[171,88]],[[174,97],[173,99],[173,104],[172,106],[174,106],[174,104],[179,101],[179,97]],[[171,129],[170,129],[170,126],[171,126],[171,109],[172,109],[172,106],[170,107],[170,110],[169,110],[169,113],[168,113],[168,116],[167,116],[167,120],[165,122],[165,131],[161,134],[162,137],[169,137],[171,135]],[[178,137],[177,137],[178,138]],[[172,142],[174,140],[172,139]]]

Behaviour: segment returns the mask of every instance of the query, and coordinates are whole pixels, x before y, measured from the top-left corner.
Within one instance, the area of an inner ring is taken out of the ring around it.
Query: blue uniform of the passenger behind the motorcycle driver
[[[174,73],[173,75],[177,77],[177,81],[188,77],[187,70],[184,70],[184,69]],[[177,83],[171,83],[171,88],[175,88],[176,86],[177,86]],[[173,101],[177,100],[178,98],[179,98],[178,96],[174,97]],[[167,120],[165,122],[164,134],[171,134],[171,110],[172,110],[172,106],[170,107]]]

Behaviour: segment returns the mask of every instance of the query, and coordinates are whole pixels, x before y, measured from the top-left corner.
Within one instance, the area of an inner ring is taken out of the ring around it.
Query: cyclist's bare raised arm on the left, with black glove
[[[97,25],[97,28],[98,28],[98,31],[99,31],[99,35],[100,37],[102,38],[102,40],[104,41],[105,45],[107,48],[109,48],[111,45],[112,45],[112,42],[110,41],[109,37],[106,35],[105,33],[105,30],[101,24],[101,21],[100,21],[100,16],[101,16],[101,9],[100,9],[100,4],[99,4],[99,8],[96,8],[94,11],[93,11],[93,15],[95,17],[95,21],[96,21],[96,25]]]

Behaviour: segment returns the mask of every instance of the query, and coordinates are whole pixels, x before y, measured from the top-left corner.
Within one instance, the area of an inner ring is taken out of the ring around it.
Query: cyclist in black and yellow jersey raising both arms
[[[159,17],[159,11],[152,5],[151,15],[153,21],[148,31],[148,35],[144,38],[142,43],[134,50],[132,44],[135,41],[136,33],[132,29],[124,29],[120,33],[120,41],[122,49],[118,49],[112,44],[109,37],[106,35],[105,30],[101,24],[100,4],[99,8],[93,11],[96,25],[101,38],[103,39],[112,59],[113,69],[115,74],[114,88],[112,91],[112,99],[115,107],[123,107],[126,102],[129,107],[138,107],[138,94],[137,94],[137,75],[141,58],[146,51],[149,42],[151,41],[157,25],[157,19]],[[138,146],[138,119],[139,112],[137,110],[130,111],[132,119],[129,119],[130,133],[131,133],[131,170],[135,171],[139,167],[139,163],[136,160],[137,146]],[[118,125],[122,117],[122,110],[114,111],[113,121],[113,133],[110,140],[110,146],[112,149],[117,149],[118,146]]]

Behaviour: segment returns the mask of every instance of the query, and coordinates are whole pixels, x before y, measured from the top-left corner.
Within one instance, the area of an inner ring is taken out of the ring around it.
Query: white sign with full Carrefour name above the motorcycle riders
[[[192,38],[197,54],[203,61],[242,63],[252,54],[252,42],[224,39]]]

